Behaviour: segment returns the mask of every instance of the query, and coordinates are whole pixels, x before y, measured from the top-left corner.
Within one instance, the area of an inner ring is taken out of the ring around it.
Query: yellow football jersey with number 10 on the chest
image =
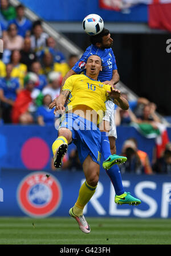
[[[111,86],[95,81],[84,74],[75,74],[67,78],[62,90],[71,92],[66,111],[74,109],[78,105],[87,105],[96,112],[104,112],[108,96],[107,90],[110,91]],[[102,116],[99,115],[99,117],[101,120]]]

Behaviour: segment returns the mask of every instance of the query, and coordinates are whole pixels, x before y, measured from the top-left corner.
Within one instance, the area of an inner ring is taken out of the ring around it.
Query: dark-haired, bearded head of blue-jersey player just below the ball
[[[90,36],[91,44],[96,45],[100,49],[109,49],[113,44],[113,39],[108,29],[103,30],[96,36]]]

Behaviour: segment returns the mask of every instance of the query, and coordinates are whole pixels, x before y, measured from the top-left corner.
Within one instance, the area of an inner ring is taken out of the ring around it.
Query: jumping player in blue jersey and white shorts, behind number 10
[[[91,45],[88,46],[86,52],[83,53],[83,56],[74,67],[66,74],[63,79],[63,84],[68,77],[74,74],[80,74],[85,70],[86,62],[88,57],[92,54],[96,54],[101,58],[102,61],[102,70],[99,72],[98,80],[103,82],[103,84],[108,84],[114,87],[117,82],[119,82],[119,74],[117,72],[117,65],[113,50],[111,48],[113,40],[108,29],[103,29],[101,33],[90,37]],[[118,103],[118,100],[115,99],[114,103]],[[107,101],[105,107],[107,109],[106,115],[103,120],[103,127],[101,129],[101,153],[104,158],[103,167],[105,168],[109,178],[112,181],[113,187],[115,188],[115,203],[117,204],[133,204],[134,198],[129,194],[129,192],[124,192],[123,183],[121,179],[121,174],[119,167],[116,163],[123,163],[127,160],[126,157],[114,155],[116,153],[115,140],[116,127],[115,127],[115,104],[112,101]],[[55,107],[56,100],[52,102],[52,106]],[[111,129],[108,130],[109,124],[111,123]],[[108,135],[107,135],[107,132]],[[109,146],[110,145],[110,146]],[[111,155],[112,153],[112,155]]]

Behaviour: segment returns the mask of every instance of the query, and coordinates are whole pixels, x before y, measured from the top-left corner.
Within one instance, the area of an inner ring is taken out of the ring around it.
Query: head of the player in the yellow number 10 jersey
[[[95,54],[89,56],[86,64],[86,75],[95,77],[94,79],[97,80],[97,77],[101,70],[101,58]]]

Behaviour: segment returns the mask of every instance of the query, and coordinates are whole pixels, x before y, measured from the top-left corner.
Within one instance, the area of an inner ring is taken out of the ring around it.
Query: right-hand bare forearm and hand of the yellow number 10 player
[[[121,92],[118,89],[114,89],[111,86],[111,92],[108,91],[109,97],[113,99],[113,102],[118,105],[121,109],[127,110],[129,108],[128,101],[121,96]]]

